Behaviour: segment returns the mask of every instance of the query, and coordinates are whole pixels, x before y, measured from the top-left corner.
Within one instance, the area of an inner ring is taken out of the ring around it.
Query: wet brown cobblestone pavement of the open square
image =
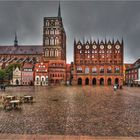
[[[0,109],[0,133],[140,136],[140,88],[10,87],[1,95],[32,95],[21,111]]]

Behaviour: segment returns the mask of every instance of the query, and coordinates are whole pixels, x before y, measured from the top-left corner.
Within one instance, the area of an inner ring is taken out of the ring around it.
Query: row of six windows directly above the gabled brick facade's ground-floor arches
[[[91,70],[92,70],[92,73],[97,73],[97,68],[96,67],[93,67]],[[107,71],[107,73],[112,73],[112,68],[108,67],[106,69],[106,71]],[[82,67],[77,67],[77,72],[82,73],[83,72]],[[89,73],[89,72],[90,72],[90,68],[86,67],[85,68],[85,73]],[[103,67],[101,67],[101,68],[99,68],[99,72],[104,73],[105,69]],[[119,67],[114,68],[114,73],[120,73],[120,68]]]

